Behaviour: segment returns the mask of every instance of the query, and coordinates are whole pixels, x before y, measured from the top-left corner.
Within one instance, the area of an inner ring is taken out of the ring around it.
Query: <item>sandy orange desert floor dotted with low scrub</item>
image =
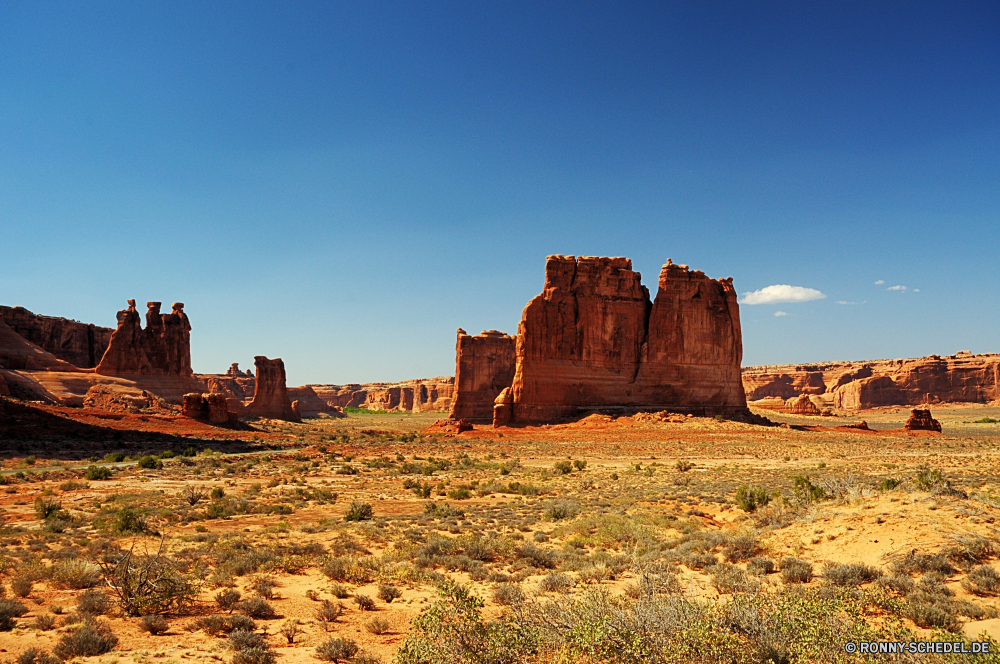
[[[119,642],[88,661],[228,662],[223,623],[239,614],[258,616],[279,662],[315,662],[331,638],[355,642],[356,661],[392,661],[447,579],[487,621],[600,588],[639,601],[653,579],[650,597],[815,591],[860,603],[873,629],[1000,639],[1000,408],[935,407],[941,434],[902,431],[903,408],[759,414],[787,426],[592,415],[445,436],[423,433],[440,413],[354,414],[181,427],[127,458],[114,443],[0,442],[0,580],[26,609],[0,631],[0,660],[52,651],[96,589],[112,601],[91,613]],[[837,428],[862,419],[871,431]],[[123,614],[109,564],[161,545],[185,590],[136,611],[164,615],[154,636]],[[244,603],[220,606],[227,588]],[[246,601],[258,596],[270,614]]]

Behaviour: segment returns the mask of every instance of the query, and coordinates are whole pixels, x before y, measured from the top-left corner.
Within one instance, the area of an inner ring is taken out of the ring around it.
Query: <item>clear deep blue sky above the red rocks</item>
[[[622,4],[4,3],[0,303],[400,380],[620,255],[824,296],[744,364],[1000,351],[1000,6]]]

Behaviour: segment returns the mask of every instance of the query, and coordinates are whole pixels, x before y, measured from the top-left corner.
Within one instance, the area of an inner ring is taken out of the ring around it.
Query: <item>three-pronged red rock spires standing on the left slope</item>
[[[96,372],[108,376],[192,376],[191,323],[184,304],[175,302],[169,314],[160,314],[159,302],[146,303],[142,328],[135,300],[118,312],[118,328],[111,335]]]

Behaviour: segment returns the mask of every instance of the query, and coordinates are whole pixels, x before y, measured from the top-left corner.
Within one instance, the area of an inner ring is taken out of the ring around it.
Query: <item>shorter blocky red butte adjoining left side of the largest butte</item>
[[[494,400],[514,380],[516,337],[496,330],[470,336],[458,328],[452,419],[493,420]]]

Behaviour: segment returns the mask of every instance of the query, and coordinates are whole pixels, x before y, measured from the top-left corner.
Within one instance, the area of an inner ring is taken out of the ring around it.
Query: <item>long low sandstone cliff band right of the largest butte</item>
[[[821,397],[840,410],[1000,399],[1000,354],[745,367],[747,399]]]

